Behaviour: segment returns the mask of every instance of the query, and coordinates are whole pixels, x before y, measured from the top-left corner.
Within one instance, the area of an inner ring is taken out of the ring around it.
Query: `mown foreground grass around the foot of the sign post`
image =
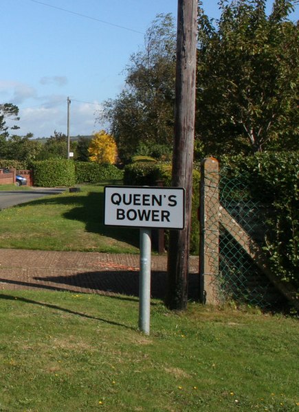
[[[0,295],[0,411],[298,411],[296,319],[133,297]]]

